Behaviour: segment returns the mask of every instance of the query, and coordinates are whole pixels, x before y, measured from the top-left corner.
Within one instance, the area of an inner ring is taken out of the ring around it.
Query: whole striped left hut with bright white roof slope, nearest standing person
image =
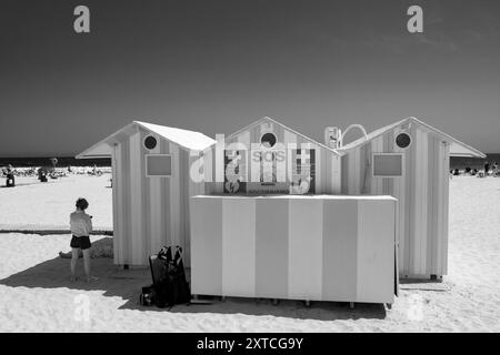
[[[216,141],[193,131],[133,121],[77,155],[111,158],[114,264],[147,265],[163,245],[190,263],[189,197],[204,194],[190,166]]]

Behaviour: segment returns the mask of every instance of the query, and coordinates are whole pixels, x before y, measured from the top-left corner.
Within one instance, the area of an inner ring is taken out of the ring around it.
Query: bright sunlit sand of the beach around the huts
[[[70,175],[40,184],[19,179],[0,189],[0,230],[67,230],[74,200],[90,202],[97,229],[112,229],[109,174]],[[71,283],[69,234],[0,234],[0,332],[499,332],[500,179],[450,182],[449,274],[442,283],[401,283],[391,308],[379,304],[248,298],[139,305],[149,268],[119,270],[92,258],[97,282]],[[94,235],[97,245],[111,237]],[[82,273],[80,261],[79,272]]]

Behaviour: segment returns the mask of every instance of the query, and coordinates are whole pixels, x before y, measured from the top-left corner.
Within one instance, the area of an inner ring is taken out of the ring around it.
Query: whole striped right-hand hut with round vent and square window
[[[376,130],[337,151],[342,154],[341,194],[398,199],[400,275],[446,275],[450,155],[486,155],[416,118]]]

